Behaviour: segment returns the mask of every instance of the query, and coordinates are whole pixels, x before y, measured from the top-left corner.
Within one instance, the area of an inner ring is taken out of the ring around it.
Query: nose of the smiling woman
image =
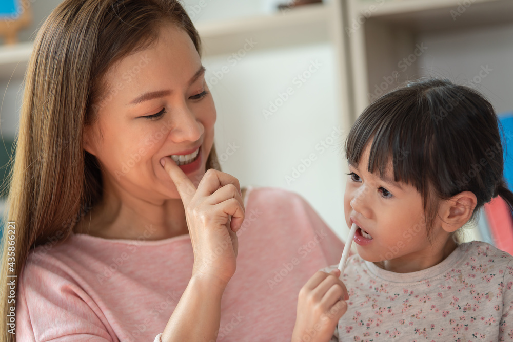
[[[172,127],[169,132],[173,142],[200,140],[205,127],[193,111],[183,103],[171,113]]]

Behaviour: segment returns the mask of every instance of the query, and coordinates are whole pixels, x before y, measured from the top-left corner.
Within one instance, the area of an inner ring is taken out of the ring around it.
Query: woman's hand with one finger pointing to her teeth
[[[199,277],[224,290],[235,273],[239,249],[235,232],[244,221],[239,181],[209,169],[196,189],[171,158],[164,158],[164,169],[184,204],[194,252],[192,277]]]

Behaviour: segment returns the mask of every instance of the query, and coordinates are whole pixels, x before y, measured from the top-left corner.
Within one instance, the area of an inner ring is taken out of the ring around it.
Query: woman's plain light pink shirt
[[[290,341],[299,290],[339,262],[343,243],[297,194],[250,187],[245,207],[217,340]],[[152,342],[193,261],[188,235],[136,241],[72,234],[49,250],[38,246],[19,279],[17,341]]]

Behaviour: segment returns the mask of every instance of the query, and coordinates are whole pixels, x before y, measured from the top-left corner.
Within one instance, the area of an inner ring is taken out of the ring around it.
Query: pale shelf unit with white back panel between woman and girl
[[[310,153],[317,152],[315,137],[325,138],[333,126],[347,133],[353,120],[343,20],[343,3],[334,0],[286,12],[195,24],[202,37],[207,71],[230,67],[227,57],[241,51],[247,40],[257,42],[240,65],[229,68],[223,84],[212,92],[220,113],[216,124],[218,155],[226,142],[241,145],[240,154],[222,165],[223,169],[239,177],[241,184],[282,187],[299,193],[341,237],[348,229],[340,210],[347,172],[340,151],[330,149],[319,155],[295,183],[285,182],[284,176]],[[319,56],[326,62],[323,75],[315,74],[305,87],[295,88],[294,76]],[[231,78],[235,73],[236,81]],[[320,83],[318,77],[324,82]],[[264,118],[262,109],[268,108],[269,100],[280,100],[278,93],[287,87],[293,88],[294,95],[269,120]],[[260,169],[259,174],[254,169]]]

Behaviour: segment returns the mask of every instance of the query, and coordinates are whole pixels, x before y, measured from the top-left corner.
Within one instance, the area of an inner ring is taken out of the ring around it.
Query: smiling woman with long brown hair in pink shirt
[[[343,246],[299,196],[217,170],[199,52],[175,1],[66,0],[46,20],[9,194],[7,340],[290,340],[299,289]]]

